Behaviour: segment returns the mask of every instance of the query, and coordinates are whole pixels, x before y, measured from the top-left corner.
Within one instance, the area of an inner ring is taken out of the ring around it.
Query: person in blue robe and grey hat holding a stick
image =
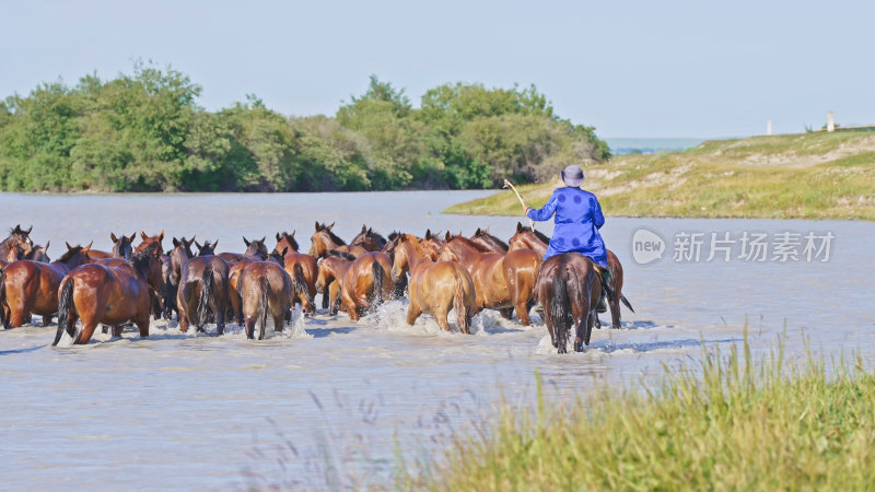
[[[562,171],[562,188],[553,190],[550,199],[540,209],[526,207],[526,216],[534,221],[547,221],[556,214],[556,229],[544,259],[562,253],[580,253],[588,257],[598,267],[602,277],[602,301],[597,311],[606,311],[605,296],[612,297],[609,289],[610,270],[608,270],[607,250],[598,230],[605,224],[602,206],[590,191],[582,190],[583,169],[570,165]]]

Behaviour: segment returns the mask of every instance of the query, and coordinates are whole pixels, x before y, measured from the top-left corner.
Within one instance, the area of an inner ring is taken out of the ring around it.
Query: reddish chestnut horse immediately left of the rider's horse
[[[502,255],[490,253],[463,236],[446,234],[439,259],[458,261],[474,279],[477,312],[497,309],[510,319],[513,311],[523,326],[532,324],[528,309],[535,304],[535,282],[541,256],[528,249]]]

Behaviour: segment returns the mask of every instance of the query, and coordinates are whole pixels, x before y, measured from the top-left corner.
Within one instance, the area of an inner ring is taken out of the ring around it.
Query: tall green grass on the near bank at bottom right
[[[747,348],[747,343],[745,343]],[[780,351],[779,351],[780,352]],[[424,477],[430,490],[866,490],[875,483],[875,376],[784,374],[775,353],[707,358],[655,394],[607,391],[536,410],[505,406]]]

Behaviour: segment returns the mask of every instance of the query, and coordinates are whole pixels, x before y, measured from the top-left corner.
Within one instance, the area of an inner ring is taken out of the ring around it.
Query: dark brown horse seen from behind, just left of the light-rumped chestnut
[[[217,242],[218,243],[218,242]],[[225,330],[228,313],[228,273],[225,260],[215,256],[217,243],[205,242],[198,246],[198,256],[189,258],[179,272],[179,289],[176,293],[176,308],[179,309],[179,330],[188,331],[195,325],[203,331],[210,312],[215,319],[219,335]]]

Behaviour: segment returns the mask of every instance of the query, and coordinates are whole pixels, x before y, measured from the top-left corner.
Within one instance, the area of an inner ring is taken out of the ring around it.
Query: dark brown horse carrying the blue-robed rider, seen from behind
[[[567,352],[571,325],[576,326],[574,351],[590,344],[596,323],[596,306],[602,298],[602,280],[595,263],[578,253],[548,258],[538,276],[538,301],[544,306],[544,323],[553,347]]]

